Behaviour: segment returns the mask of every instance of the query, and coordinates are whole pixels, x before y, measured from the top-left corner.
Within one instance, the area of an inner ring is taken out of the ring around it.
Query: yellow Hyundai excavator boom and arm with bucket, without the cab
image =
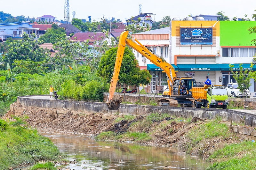
[[[121,33],[120,40],[118,43],[114,73],[110,81],[108,101],[106,102],[109,110],[117,110],[121,103],[121,99],[118,99],[118,98],[113,99],[113,97],[114,97],[114,92],[116,90],[117,81],[119,80],[118,76],[119,76],[121,63],[124,55],[124,49],[126,45],[138,51],[141,55],[145,56],[149,61],[154,63],[156,66],[160,67],[167,74],[167,83],[168,83],[169,89],[171,89],[173,77],[176,77],[176,73],[171,64],[165,62],[160,57],[153,54],[148,48],[143,46],[138,40],[134,39],[133,41],[132,39],[128,39],[128,33],[129,33],[128,31],[124,31],[123,33]],[[171,95],[170,91],[168,92],[168,95]]]

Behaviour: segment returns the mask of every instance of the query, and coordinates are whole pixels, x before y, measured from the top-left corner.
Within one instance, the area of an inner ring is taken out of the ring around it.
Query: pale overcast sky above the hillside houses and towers
[[[64,20],[65,0],[0,0],[0,11],[9,13],[12,16],[41,17],[45,14],[52,15],[58,20]],[[229,19],[233,17],[252,19],[252,14],[256,13],[256,0],[214,0],[214,1],[193,1],[193,0],[69,0],[70,21],[73,18],[86,19],[92,16],[92,21],[101,21],[100,18],[126,19],[139,15],[139,5],[141,11],[154,13],[151,15],[155,21],[161,21],[163,17],[185,18],[189,14],[216,14],[223,11]]]

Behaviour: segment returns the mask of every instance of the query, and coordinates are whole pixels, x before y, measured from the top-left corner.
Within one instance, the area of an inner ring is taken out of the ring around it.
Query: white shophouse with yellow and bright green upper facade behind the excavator
[[[251,40],[255,39],[256,35],[248,31],[249,27],[255,25],[256,21],[172,20],[170,27],[159,29],[158,34],[152,33],[151,38],[148,32],[133,36],[171,63],[178,70],[176,76],[193,77],[201,84],[206,76],[209,76],[212,84],[227,85],[235,81],[229,71],[229,64],[235,65],[234,70],[239,70],[240,63],[243,63],[244,69],[256,70],[255,66],[250,67],[256,49]],[[158,46],[154,49],[154,45]],[[143,69],[147,64],[147,69],[151,72],[152,79],[147,88],[148,92],[161,92],[166,85],[164,73],[160,68],[147,63],[147,59],[145,63],[143,57],[134,50],[133,52],[139,60],[139,66]],[[249,90],[255,92],[256,85],[253,79],[251,84]]]

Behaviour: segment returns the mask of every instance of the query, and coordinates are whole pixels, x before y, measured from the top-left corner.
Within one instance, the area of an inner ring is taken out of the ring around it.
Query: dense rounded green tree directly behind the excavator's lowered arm
[[[116,62],[117,47],[108,50],[100,60],[99,70],[97,74],[104,78],[105,81],[110,82],[114,71]],[[119,73],[119,83],[128,85],[146,84],[150,80],[150,75],[145,71],[140,71],[138,61],[135,59],[132,51],[126,47],[124,49],[124,56]]]

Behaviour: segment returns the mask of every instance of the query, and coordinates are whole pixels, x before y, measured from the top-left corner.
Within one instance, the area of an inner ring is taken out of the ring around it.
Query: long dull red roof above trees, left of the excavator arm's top
[[[71,41],[87,41],[90,40],[90,42],[98,41],[105,39],[105,33],[93,33],[93,32],[85,32],[85,33],[75,33],[70,40]]]

